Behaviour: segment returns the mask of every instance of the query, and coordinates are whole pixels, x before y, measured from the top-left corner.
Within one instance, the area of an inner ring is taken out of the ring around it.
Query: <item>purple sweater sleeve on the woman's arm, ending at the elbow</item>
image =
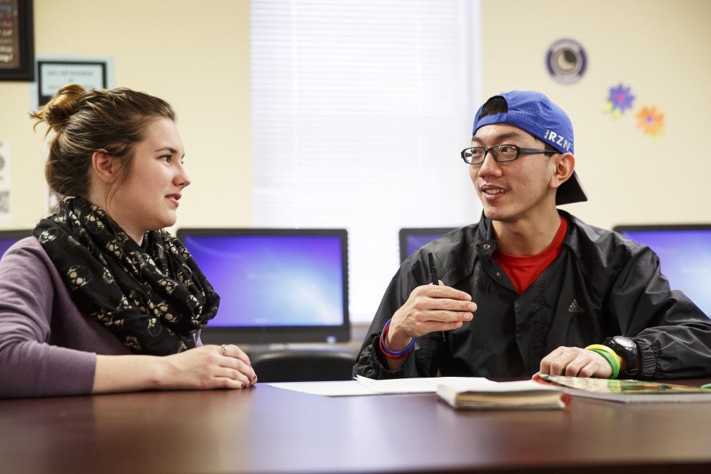
[[[94,386],[96,354],[49,344],[56,282],[29,237],[0,261],[0,398],[83,395]]]

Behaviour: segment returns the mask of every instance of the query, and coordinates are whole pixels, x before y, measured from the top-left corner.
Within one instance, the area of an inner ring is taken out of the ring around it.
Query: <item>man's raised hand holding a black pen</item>
[[[395,311],[385,344],[390,351],[402,351],[412,338],[433,331],[451,331],[471,321],[476,304],[471,296],[449,286],[423,285],[410,293],[405,304]]]

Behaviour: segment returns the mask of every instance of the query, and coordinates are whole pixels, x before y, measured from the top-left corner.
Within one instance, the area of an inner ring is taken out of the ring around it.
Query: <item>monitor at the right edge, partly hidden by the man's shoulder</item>
[[[683,291],[711,317],[711,224],[622,225],[612,230],[655,251],[672,289]]]

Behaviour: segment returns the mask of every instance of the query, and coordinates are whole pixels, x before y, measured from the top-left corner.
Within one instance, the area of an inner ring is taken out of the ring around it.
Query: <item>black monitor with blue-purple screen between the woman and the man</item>
[[[177,236],[220,295],[204,343],[350,339],[346,230],[181,228]]]

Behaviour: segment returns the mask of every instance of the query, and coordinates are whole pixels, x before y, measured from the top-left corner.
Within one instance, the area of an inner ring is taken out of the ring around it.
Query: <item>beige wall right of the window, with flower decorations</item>
[[[573,120],[588,203],[564,208],[597,226],[711,222],[711,2],[707,0],[483,0],[483,93],[538,89]],[[564,86],[543,67],[545,51],[570,37],[585,47],[588,74]],[[623,81],[635,111],[656,105],[666,133],[643,136],[633,114],[601,113]]]

